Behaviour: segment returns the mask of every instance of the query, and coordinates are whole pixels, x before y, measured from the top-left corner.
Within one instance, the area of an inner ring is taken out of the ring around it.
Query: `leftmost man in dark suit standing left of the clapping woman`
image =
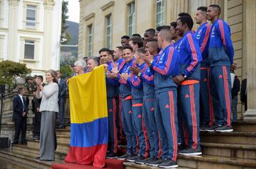
[[[14,97],[14,125],[15,135],[12,144],[18,144],[21,132],[21,144],[26,144],[26,119],[28,114],[28,105],[23,95],[26,93],[25,88],[18,88],[18,95]]]

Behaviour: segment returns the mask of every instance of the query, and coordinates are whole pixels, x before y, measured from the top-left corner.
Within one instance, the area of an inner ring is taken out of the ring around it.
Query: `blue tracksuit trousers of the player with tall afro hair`
[[[188,132],[188,147],[196,149],[199,139],[199,88],[200,83],[179,86],[181,115]]]

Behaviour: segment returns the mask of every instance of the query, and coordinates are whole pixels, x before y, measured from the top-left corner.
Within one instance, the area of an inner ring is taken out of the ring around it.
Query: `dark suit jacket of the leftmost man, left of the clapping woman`
[[[24,104],[24,111],[23,111],[23,104],[20,96],[19,95],[14,96],[14,102],[13,102],[14,120],[21,119],[23,112],[26,112],[26,115],[28,114],[28,105],[26,104],[26,99],[24,97],[22,98],[23,98],[23,104]]]

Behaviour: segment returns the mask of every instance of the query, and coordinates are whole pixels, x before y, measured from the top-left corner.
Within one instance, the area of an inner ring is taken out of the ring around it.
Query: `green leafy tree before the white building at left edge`
[[[15,78],[17,76],[25,77],[30,73],[31,69],[28,69],[26,64],[9,60],[2,61],[0,62],[0,85],[6,84],[11,90],[11,87],[16,84]]]

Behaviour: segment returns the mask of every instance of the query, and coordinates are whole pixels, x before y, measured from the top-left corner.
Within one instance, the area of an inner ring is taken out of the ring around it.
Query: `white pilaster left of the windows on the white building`
[[[18,33],[18,3],[19,0],[9,0],[9,37],[8,37],[8,58],[15,60]]]

